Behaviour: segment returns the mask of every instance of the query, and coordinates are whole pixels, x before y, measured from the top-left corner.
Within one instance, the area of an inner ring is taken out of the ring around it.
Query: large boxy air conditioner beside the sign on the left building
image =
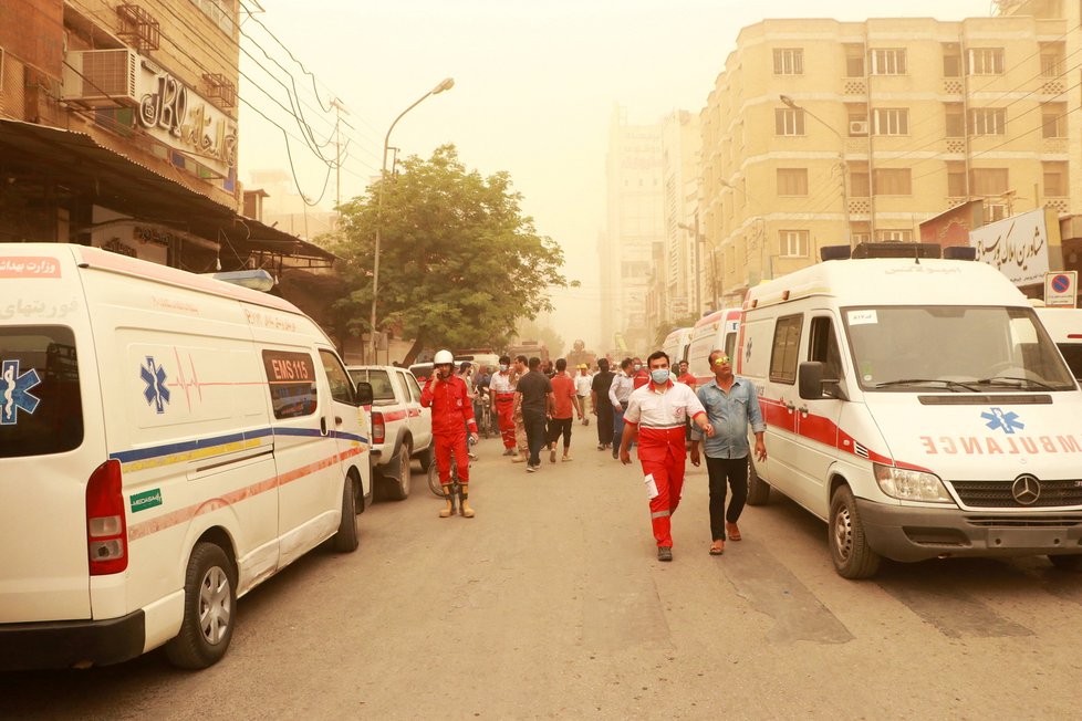
[[[136,107],[139,56],[126,49],[67,53],[61,100],[86,107]]]

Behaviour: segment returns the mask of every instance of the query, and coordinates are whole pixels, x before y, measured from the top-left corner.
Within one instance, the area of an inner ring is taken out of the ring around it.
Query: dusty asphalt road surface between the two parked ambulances
[[[3,719],[1073,718],[1082,575],[1044,558],[835,575],[825,525],[774,494],[720,557],[706,471],[658,563],[637,466],[595,450],[528,474],[481,441],[475,519],[414,476],[239,604],[217,666],[154,652],[0,675]]]

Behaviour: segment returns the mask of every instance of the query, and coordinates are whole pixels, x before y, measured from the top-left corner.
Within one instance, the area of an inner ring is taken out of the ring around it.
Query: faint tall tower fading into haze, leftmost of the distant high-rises
[[[597,243],[601,332],[613,349],[644,351],[653,341],[651,291],[664,278],[663,124],[631,125],[614,106],[606,156],[606,226]],[[655,314],[656,315],[656,314]],[[610,346],[606,346],[606,348]]]

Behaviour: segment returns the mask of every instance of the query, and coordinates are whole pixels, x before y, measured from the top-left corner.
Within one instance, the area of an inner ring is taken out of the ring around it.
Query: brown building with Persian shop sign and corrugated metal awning
[[[315,316],[333,255],[237,181],[238,0],[0,2],[0,241],[263,268]],[[248,209],[246,215],[245,209]]]

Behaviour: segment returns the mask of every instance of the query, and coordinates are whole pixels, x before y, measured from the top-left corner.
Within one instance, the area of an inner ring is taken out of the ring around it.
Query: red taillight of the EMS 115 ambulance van
[[[92,576],[127,570],[127,524],[117,460],[98,466],[86,484],[86,547]]]

